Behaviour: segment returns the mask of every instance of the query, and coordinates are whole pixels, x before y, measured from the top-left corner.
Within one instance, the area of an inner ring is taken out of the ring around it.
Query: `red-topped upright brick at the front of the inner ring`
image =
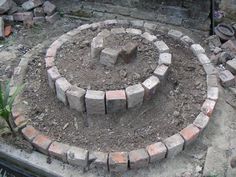
[[[126,110],[126,95],[124,90],[106,91],[107,113]]]

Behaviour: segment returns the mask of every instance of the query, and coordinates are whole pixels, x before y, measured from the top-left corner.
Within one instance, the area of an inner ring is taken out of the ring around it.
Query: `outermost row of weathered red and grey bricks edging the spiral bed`
[[[119,21],[119,23],[127,22],[128,21],[125,20]],[[118,21],[107,20],[91,25],[111,25],[114,23],[118,23]],[[78,31],[86,29],[89,26],[90,25],[82,25],[79,28],[61,36],[57,40],[57,42],[63,42],[68,37],[73,36],[73,34],[75,35]],[[153,26],[155,25],[153,24]],[[176,38],[177,36],[181,36],[180,34],[181,32],[178,32],[176,30],[169,31],[169,35],[174,38]],[[43,133],[39,132],[31,125],[26,125],[23,129],[21,129],[22,135],[35,147],[37,151],[62,160],[65,163],[88,169],[96,167],[106,169],[110,172],[123,172],[129,169],[146,167],[153,162],[160,161],[165,158],[173,158],[176,154],[183,151],[186,146],[194,142],[199,134],[205,129],[210,121],[210,118],[212,117],[219,94],[218,87],[215,86],[214,82],[211,82],[209,80],[210,78],[216,78],[217,72],[214,71],[214,67],[210,63],[210,60],[208,60],[205,50],[199,44],[192,44],[193,40],[191,40],[191,38],[189,38],[188,36],[183,36],[179,38],[179,40],[184,42],[186,46],[190,47],[194,55],[203,65],[208,78],[207,98],[201,107],[201,112],[192,124],[188,125],[180,132],[166,138],[162,142],[156,142],[151,145],[147,145],[147,147],[145,148],[133,150],[130,152],[94,152],[87,149],[70,146],[54,141],[53,139],[43,135]],[[18,72],[14,72],[12,78],[13,81],[19,77],[24,77],[27,65],[27,59],[26,57],[23,57],[16,69],[16,71]],[[21,79],[21,81],[23,83],[23,79]],[[11,89],[14,88],[15,85],[13,82],[13,84],[11,84]],[[19,125],[22,121],[25,120],[23,110],[21,110],[19,104],[20,99],[17,98],[12,111],[12,116],[16,125]]]

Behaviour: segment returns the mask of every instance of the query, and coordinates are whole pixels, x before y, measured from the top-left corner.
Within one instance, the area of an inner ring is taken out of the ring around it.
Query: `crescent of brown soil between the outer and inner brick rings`
[[[161,141],[192,123],[206,97],[205,73],[189,49],[166,36],[173,53],[166,84],[142,107],[113,115],[87,116],[64,106],[47,84],[44,57],[29,65],[23,93],[32,124],[54,140],[89,150],[125,151]]]

